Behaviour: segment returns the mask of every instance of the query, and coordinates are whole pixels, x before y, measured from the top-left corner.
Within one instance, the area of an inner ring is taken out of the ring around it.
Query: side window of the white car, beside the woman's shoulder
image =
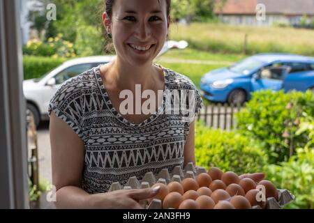
[[[66,82],[68,79],[75,77],[77,75],[80,75],[82,72],[85,72],[91,68],[91,63],[85,63],[80,65],[71,66],[70,68],[66,68],[65,70],[62,70],[54,76],[56,79],[56,84],[62,84],[63,82]]]

